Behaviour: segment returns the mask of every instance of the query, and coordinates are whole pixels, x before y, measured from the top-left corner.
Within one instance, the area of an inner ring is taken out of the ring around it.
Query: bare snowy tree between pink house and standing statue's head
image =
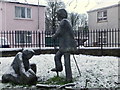
[[[65,4],[58,0],[48,0],[48,7],[46,10],[46,30],[53,31],[56,30],[57,27],[57,16],[56,12],[60,8],[65,8]]]

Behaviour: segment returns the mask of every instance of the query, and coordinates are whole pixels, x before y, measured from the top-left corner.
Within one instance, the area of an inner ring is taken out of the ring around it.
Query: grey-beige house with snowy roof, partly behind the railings
[[[88,13],[89,42],[97,46],[120,46],[120,3],[100,4]]]

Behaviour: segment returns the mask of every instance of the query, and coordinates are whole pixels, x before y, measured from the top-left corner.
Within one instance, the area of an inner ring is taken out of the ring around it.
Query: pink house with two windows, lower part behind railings
[[[35,31],[45,31],[45,6],[20,2],[0,1],[0,32],[12,31],[12,37],[0,33],[0,37],[9,39],[10,44],[32,44],[38,35]],[[40,40],[39,40],[40,41]]]

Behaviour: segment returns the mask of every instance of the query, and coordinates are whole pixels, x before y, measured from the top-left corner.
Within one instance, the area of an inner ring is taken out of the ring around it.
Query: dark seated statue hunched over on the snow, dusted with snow
[[[3,74],[2,83],[35,84],[37,81],[36,64],[30,64],[34,55],[32,49],[24,49],[16,54],[9,70]]]

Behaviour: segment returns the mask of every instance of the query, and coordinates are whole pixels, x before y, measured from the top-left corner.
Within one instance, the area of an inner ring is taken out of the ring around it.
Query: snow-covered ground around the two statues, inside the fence
[[[89,80],[88,88],[109,88],[117,87],[115,82],[118,82],[118,57],[110,56],[89,56],[75,55],[82,76],[79,77],[73,56],[71,55],[71,67],[73,78],[75,79],[76,87],[85,87],[86,79]],[[6,72],[14,57],[0,58],[0,80],[2,74]],[[31,63],[37,65],[37,76],[41,80],[47,80],[56,76],[56,73],[50,70],[54,67],[54,54],[41,54],[33,56]],[[62,57],[64,65],[64,58]],[[65,76],[65,71],[60,73],[60,76]],[[0,88],[5,87],[5,84],[0,83]]]

